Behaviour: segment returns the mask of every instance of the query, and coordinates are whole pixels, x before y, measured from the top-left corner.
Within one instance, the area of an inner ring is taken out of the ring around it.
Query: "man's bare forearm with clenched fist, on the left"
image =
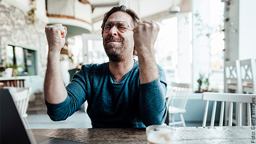
[[[67,98],[67,90],[62,80],[60,52],[65,44],[67,28],[61,24],[45,27],[49,45],[47,69],[45,73],[44,96],[49,103],[56,104]]]

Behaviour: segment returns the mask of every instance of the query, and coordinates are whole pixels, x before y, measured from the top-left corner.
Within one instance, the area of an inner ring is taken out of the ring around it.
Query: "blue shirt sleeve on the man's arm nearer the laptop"
[[[74,112],[79,110],[79,107],[86,100],[86,79],[88,78],[84,72],[84,66],[82,69],[73,76],[73,79],[69,85],[67,85],[67,98],[58,104],[51,104],[45,100],[47,107],[47,114],[53,121],[66,120]]]

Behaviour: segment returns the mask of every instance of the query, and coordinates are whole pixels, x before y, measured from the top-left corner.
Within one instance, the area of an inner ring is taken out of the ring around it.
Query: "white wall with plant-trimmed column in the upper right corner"
[[[256,58],[256,1],[232,0],[225,3],[225,59]],[[227,8],[229,10],[227,10]]]

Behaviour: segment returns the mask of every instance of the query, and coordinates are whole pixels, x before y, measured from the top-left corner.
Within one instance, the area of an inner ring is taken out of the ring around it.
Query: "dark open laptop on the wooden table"
[[[0,144],[83,144],[42,135],[33,136],[32,131],[24,127],[11,94],[0,89]]]

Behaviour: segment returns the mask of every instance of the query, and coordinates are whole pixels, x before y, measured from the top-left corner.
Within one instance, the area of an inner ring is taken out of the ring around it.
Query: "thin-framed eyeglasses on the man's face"
[[[101,25],[102,31],[108,33],[114,25],[116,25],[118,32],[126,32],[128,28],[134,30],[126,21],[106,21]]]

